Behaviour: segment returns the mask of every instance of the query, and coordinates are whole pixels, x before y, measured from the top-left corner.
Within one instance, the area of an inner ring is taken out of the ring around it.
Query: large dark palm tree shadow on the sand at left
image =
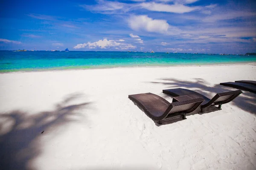
[[[79,121],[87,113],[84,109],[88,109],[90,102],[70,104],[79,96],[70,94],[53,111],[33,115],[21,110],[0,113],[0,169],[32,169],[29,161],[41,153],[39,137],[52,127]]]

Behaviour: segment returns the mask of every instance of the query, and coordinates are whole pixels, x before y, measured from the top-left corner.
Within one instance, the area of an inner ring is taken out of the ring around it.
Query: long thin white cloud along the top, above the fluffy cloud
[[[173,5],[168,5],[168,4],[154,3],[154,2],[141,3],[140,6],[149,11],[173,12],[173,13],[179,13],[179,14],[195,11],[201,8],[199,6],[195,6],[195,7],[184,6],[183,4],[178,4],[178,3],[175,3]]]

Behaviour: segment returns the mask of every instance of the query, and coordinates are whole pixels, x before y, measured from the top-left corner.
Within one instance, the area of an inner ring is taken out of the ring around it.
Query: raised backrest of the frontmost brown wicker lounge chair
[[[204,102],[203,97],[183,100],[180,102],[173,102],[169,105],[165,113],[167,112],[168,114],[174,114],[174,113],[180,113],[180,112],[191,113],[195,111],[203,102]]]

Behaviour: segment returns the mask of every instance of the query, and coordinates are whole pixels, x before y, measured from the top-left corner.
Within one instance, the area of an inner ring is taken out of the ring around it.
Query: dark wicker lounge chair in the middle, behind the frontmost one
[[[204,102],[201,105],[201,112],[203,113],[205,108],[208,108],[214,105],[218,105],[218,108],[221,109],[221,105],[232,101],[237,96],[239,96],[242,93],[242,91],[237,90],[237,91],[228,91],[224,93],[218,93],[212,99],[209,99],[206,96],[199,94],[195,91],[191,91],[184,88],[167,89],[167,90],[163,90],[163,93],[170,94],[171,96],[174,96],[174,97],[187,95],[192,99],[203,97]]]

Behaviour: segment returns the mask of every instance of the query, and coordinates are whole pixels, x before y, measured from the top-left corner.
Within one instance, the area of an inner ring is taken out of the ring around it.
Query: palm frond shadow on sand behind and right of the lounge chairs
[[[209,99],[212,99],[212,97],[216,93],[237,90],[235,88],[230,88],[230,87],[226,87],[219,84],[216,84],[211,87],[209,82],[199,78],[194,79],[194,81],[186,81],[186,80],[172,79],[172,78],[166,78],[166,79],[160,79],[160,80],[161,82],[151,82],[151,83],[163,84],[164,85],[163,89],[187,88],[189,90],[196,91],[199,94],[202,94],[208,97]],[[234,99],[230,103],[232,105],[236,105],[243,111],[256,114],[256,94],[243,91],[241,95],[236,97],[236,99]]]

